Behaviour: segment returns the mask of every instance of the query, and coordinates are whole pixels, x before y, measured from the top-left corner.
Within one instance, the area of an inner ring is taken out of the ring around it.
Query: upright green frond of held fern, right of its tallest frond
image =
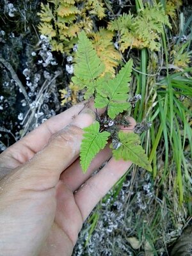
[[[131,106],[127,102],[131,71],[132,60],[129,60],[115,78],[101,84],[101,86],[97,86],[95,108],[106,107],[108,116],[113,119]]]

